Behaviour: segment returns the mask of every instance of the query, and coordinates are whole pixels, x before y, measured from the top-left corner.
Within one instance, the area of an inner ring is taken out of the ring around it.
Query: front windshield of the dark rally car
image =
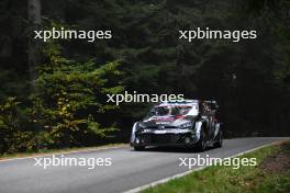
[[[149,112],[148,117],[186,115],[190,109],[191,106],[157,106]]]

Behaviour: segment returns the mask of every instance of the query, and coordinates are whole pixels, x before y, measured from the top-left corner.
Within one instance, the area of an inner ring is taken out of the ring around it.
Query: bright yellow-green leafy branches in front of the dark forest
[[[108,77],[118,79],[118,63],[100,67],[90,60],[83,64],[68,60],[60,55],[59,46],[51,43],[45,49],[47,61],[40,66],[35,80],[36,92],[31,96],[31,111],[36,129],[49,134],[54,145],[79,145],[80,136],[104,137],[108,128],[98,123],[98,115],[115,106],[104,103],[107,93],[119,93],[121,86],[110,86]],[[42,141],[40,141],[42,144]]]

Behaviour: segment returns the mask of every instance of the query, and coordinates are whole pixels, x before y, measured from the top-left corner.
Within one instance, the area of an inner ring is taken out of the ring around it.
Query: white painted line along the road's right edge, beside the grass
[[[261,148],[265,148],[265,147],[268,147],[268,146],[272,146],[272,145],[276,145],[276,144],[279,144],[281,141],[285,141],[285,140],[279,140],[279,141],[274,141],[274,143],[270,143],[270,144],[265,144],[263,146],[259,146],[259,147],[256,147],[256,148],[253,148],[253,149],[249,149],[249,150],[246,150],[246,151],[243,151],[243,152],[238,152],[236,155],[233,155],[233,156],[230,156],[230,157],[225,157],[225,158],[234,158],[234,157],[238,157],[238,156],[243,156],[245,154],[248,154],[248,152],[253,152],[255,150],[259,150]],[[223,158],[223,159],[225,159]],[[211,166],[203,166],[203,167],[199,167],[199,168],[196,168],[196,169],[192,169],[192,170],[189,170],[189,171],[186,171],[183,173],[178,173],[178,174],[175,174],[172,177],[168,177],[168,178],[165,178],[165,179],[161,179],[161,180],[157,180],[155,182],[152,182],[152,183],[148,183],[148,184],[145,184],[145,185],[142,185],[142,186],[138,186],[138,188],[135,188],[135,189],[131,189],[129,191],[124,191],[122,193],[138,193],[141,191],[144,191],[146,189],[149,189],[149,188],[154,188],[156,185],[159,185],[159,184],[163,184],[163,183],[166,183],[166,182],[169,182],[170,180],[175,180],[175,179],[179,179],[181,177],[185,177],[185,175],[188,175],[190,173],[193,173],[196,171],[200,171],[200,170],[203,170],[208,167],[211,167]]]

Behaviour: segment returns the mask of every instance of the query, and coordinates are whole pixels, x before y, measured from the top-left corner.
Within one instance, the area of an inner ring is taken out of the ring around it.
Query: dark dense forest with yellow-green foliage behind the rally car
[[[0,154],[129,141],[150,103],[124,91],[216,100],[226,137],[289,136],[288,0],[1,0]],[[112,38],[35,39],[51,29]],[[257,38],[179,39],[180,30]]]

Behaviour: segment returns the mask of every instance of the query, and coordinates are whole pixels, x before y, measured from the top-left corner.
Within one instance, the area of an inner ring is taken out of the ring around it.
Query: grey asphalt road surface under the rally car
[[[271,138],[238,138],[224,140],[222,148],[210,148],[201,156],[230,157],[278,140]],[[71,158],[111,158],[112,166],[35,167],[34,158],[0,161],[0,193],[114,193],[124,192],[154,181],[182,173],[179,158],[198,154],[180,148],[150,148],[133,151],[130,147],[65,155]],[[48,156],[49,157],[49,156]]]

